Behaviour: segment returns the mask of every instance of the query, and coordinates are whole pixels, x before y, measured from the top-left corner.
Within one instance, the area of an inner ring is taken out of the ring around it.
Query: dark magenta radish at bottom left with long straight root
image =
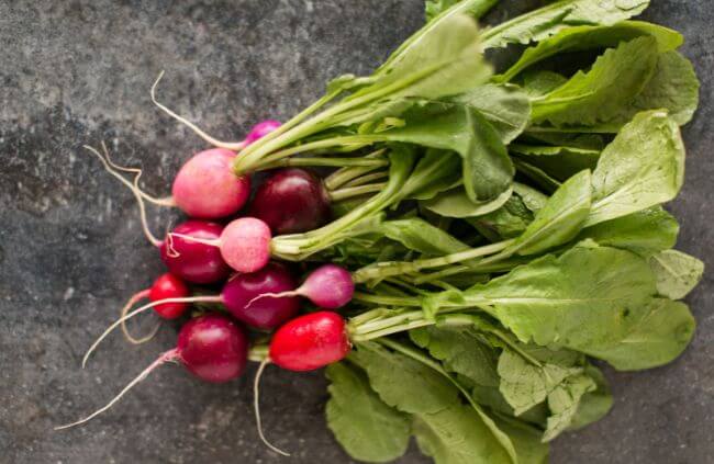
[[[55,430],[79,426],[104,412],[164,363],[180,362],[197,377],[205,382],[222,383],[241,375],[247,360],[248,338],[234,321],[217,314],[197,317],[181,327],[176,348],[159,355],[107,406],[81,420],[56,427]]]

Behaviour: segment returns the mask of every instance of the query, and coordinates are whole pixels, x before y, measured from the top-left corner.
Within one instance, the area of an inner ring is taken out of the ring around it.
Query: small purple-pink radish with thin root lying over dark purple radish
[[[304,296],[325,309],[337,309],[352,301],[355,283],[352,274],[337,264],[323,264],[308,275],[298,288],[291,292],[264,293],[253,298],[248,306],[265,297]]]

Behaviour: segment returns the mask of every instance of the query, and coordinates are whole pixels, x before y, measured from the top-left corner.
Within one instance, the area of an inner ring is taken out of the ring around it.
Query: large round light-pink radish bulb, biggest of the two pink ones
[[[191,217],[208,219],[237,213],[250,194],[250,178],[233,173],[233,158],[235,152],[225,148],[193,155],[174,179],[177,206]]]

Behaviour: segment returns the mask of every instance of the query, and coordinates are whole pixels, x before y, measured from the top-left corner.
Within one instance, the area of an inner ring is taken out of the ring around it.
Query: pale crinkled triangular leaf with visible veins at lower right
[[[581,367],[568,364],[546,362],[536,365],[521,354],[505,349],[499,358],[499,389],[513,407],[515,415],[520,416],[545,401],[566,378],[581,372]]]

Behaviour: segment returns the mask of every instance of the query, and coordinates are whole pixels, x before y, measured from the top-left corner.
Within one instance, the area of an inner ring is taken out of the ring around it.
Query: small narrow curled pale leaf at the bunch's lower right
[[[578,412],[583,395],[594,392],[595,382],[581,374],[568,377],[548,395],[548,407],[553,415],[548,417],[543,441],[548,442],[565,431]]]

